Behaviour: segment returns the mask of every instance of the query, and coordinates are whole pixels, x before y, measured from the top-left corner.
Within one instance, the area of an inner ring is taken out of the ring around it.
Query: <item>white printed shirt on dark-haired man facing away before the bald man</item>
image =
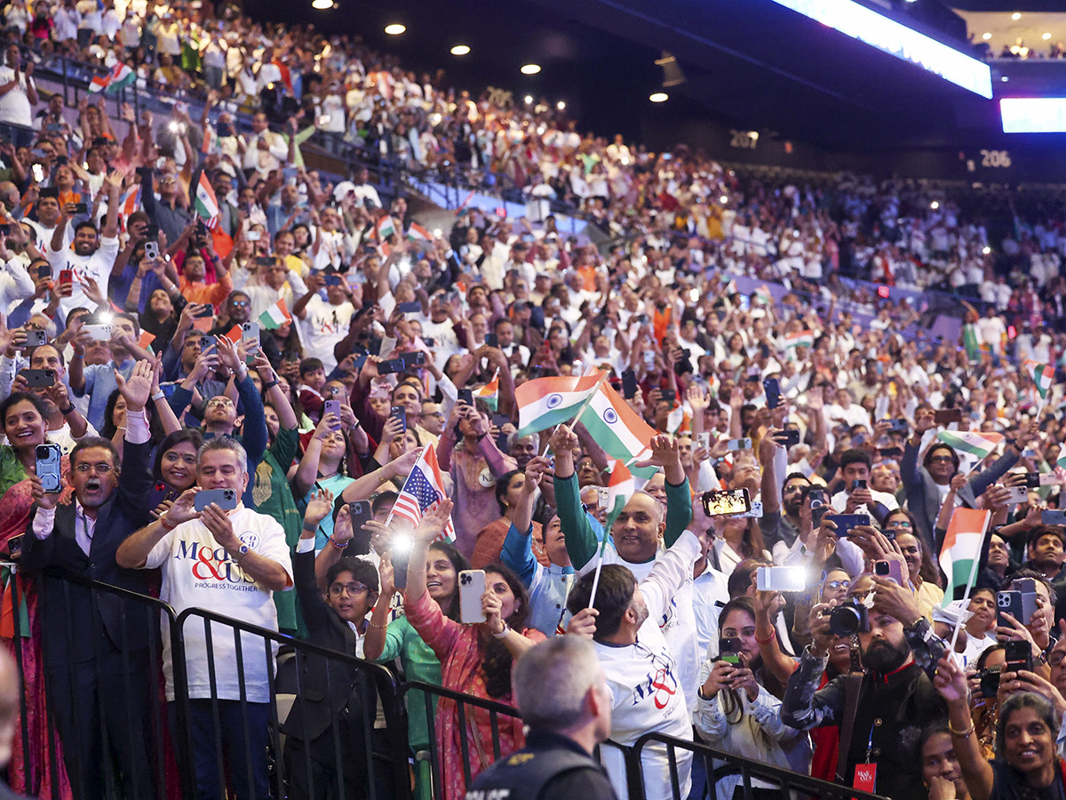
[[[659,629],[659,622],[680,588],[688,583],[691,590],[692,565],[698,556],[698,540],[691,531],[684,531],[673,547],[651,562],[650,573],[640,582],[648,619],[641,625],[636,642],[620,646],[594,642],[611,691],[611,738],[619,745],[633,745],[649,731],[692,741],[692,722],[681,675]],[[691,609],[691,603],[689,606]],[[695,682],[691,691],[695,691]],[[647,800],[672,798],[666,748],[648,746],[643,753]],[[692,786],[692,753],[677,750],[675,754],[681,797],[688,797]],[[627,800],[629,793],[620,751],[600,748],[600,758],[614,790],[621,800]]]

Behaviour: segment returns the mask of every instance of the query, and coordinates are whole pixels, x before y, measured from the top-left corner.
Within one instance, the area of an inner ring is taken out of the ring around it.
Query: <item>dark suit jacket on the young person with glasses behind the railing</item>
[[[319,592],[314,580],[314,553],[294,554],[292,571],[300,595],[300,610],[309,631],[308,642],[354,656],[355,631]],[[373,679],[365,670],[318,655],[300,656],[298,681],[300,697],[281,726],[288,736],[313,740],[325,733],[335,720],[341,719],[345,708],[359,719],[362,698],[373,704],[367,713],[374,714],[377,694]],[[365,691],[362,687],[366,687]],[[361,736],[362,725],[356,729]],[[357,742],[348,742],[348,746],[355,752],[361,752]]]

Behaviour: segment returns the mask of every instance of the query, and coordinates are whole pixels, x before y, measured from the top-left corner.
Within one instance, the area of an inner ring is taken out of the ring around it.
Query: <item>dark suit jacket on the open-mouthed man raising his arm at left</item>
[[[55,527],[47,539],[33,535],[33,517],[37,511],[34,506],[22,544],[20,569],[27,573],[39,573],[47,567],[60,567],[85,578],[147,594],[145,573],[120,569],[115,563],[115,551],[130,533],[148,523],[147,497],[152,485],[149,464],[151,447],[150,442],[125,444],[118,486],[97,511],[87,556],[75,539],[77,508],[74,502],[55,508]],[[88,589],[48,572],[41,574],[38,580],[42,581],[41,630],[46,666],[64,667],[71,661],[92,660],[98,646],[107,647],[109,644],[118,651],[148,645],[148,625],[158,624],[159,619],[148,606],[107,592],[99,592],[94,601]],[[94,613],[94,604],[98,614]],[[100,634],[106,636],[100,638]]]

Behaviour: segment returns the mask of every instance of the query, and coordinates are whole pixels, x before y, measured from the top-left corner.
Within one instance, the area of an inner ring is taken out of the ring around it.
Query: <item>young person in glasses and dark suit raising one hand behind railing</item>
[[[377,570],[368,561],[340,559],[326,573],[324,597],[314,580],[314,533],[319,523],[333,513],[333,499],[329,492],[319,492],[307,503],[292,559],[293,577],[308,641],[361,658],[367,614],[377,599]],[[373,681],[362,670],[314,655],[297,656],[296,667],[300,693],[281,726],[288,736],[285,759],[290,796],[366,797],[369,742],[364,716],[373,719],[375,715]]]

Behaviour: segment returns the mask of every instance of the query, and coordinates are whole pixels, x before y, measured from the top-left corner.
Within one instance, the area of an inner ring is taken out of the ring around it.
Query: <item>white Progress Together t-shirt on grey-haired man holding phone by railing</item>
[[[285,542],[285,530],[270,516],[243,505],[229,513],[238,539],[263,558],[279,563],[292,586],[292,561]],[[232,617],[259,627],[277,630],[277,609],[271,591],[244,574],[199,519],[182,523],[163,537],[148,554],[145,569],[161,567],[163,585],[159,597],[181,613],[187,608],[203,608]],[[210,698],[206,626],[203,619],[191,618],[184,626],[185,669],[189,697]],[[233,629],[217,623],[211,626],[216,697],[240,700],[237,676],[237,649]],[[270,683],[263,642],[252,634],[241,635],[244,660],[244,690],[248,702],[270,702]],[[277,654],[277,645],[271,647]],[[163,625],[163,676],[166,699],[174,700],[174,662],[171,658],[169,626]]]

